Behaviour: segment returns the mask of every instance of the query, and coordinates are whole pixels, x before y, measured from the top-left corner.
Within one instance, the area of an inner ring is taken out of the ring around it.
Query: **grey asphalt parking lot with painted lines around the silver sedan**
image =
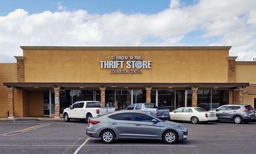
[[[0,154],[253,154],[256,123],[183,123],[187,140],[174,145],[158,140],[117,140],[103,144],[86,136],[87,123],[0,121]]]

